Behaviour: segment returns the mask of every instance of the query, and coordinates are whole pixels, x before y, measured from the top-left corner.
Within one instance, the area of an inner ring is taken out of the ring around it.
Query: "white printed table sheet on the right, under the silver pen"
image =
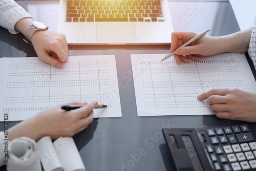
[[[197,97],[218,88],[256,93],[244,54],[225,53],[177,64],[167,54],[131,55],[138,116],[209,115],[211,106]]]

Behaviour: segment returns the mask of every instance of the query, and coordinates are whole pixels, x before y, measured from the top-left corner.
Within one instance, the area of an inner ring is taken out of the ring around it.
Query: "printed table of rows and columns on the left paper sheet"
[[[44,62],[10,63],[6,91],[6,112],[41,111],[60,103],[109,100],[110,93],[101,91],[110,85],[108,61],[71,61],[61,70]],[[111,108],[111,105],[108,105]]]

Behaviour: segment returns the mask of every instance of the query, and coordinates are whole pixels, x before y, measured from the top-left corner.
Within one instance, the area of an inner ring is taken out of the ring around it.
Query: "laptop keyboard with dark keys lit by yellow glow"
[[[67,1],[66,22],[164,22],[160,0]]]

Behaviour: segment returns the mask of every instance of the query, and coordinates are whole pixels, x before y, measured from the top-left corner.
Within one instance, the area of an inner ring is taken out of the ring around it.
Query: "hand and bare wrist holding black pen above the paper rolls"
[[[35,141],[45,136],[50,136],[52,140],[59,137],[72,137],[76,133],[86,129],[93,122],[93,109],[98,102],[92,102],[79,109],[65,111],[62,105],[81,104],[71,102],[60,104],[14,125],[9,129],[9,139],[18,137],[30,137]]]

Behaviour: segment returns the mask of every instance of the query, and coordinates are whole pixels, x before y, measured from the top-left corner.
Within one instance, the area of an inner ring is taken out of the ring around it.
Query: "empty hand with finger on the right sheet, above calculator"
[[[212,89],[198,96],[206,99],[221,119],[256,122],[256,94],[239,89]]]

